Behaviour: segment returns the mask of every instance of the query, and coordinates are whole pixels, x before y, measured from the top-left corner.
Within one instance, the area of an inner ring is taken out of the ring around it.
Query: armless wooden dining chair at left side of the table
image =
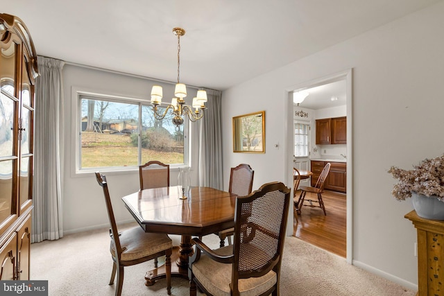
[[[165,269],[167,273],[167,293],[171,295],[171,253],[173,242],[167,234],[153,234],[144,232],[142,227],[136,226],[118,232],[114,211],[108,191],[108,182],[105,175],[96,172],[96,179],[103,188],[106,209],[110,220],[110,252],[112,256],[112,273],[110,285],[114,284],[114,277],[117,272],[116,296],[120,296],[123,286],[123,268],[135,265],[160,256],[165,256]]]

